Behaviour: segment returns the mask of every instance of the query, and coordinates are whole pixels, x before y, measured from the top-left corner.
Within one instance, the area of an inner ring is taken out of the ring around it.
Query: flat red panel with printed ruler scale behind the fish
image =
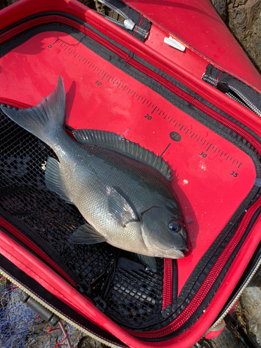
[[[65,33],[33,36],[1,57],[0,73],[1,97],[31,105],[60,74],[68,125],[116,132],[171,165],[190,245],[177,262],[180,292],[253,187],[251,157]]]

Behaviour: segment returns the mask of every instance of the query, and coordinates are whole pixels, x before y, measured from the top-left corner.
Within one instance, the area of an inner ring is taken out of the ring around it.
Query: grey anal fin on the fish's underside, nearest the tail
[[[47,159],[45,184],[47,189],[56,192],[65,202],[74,204],[61,172],[61,164],[52,157]]]

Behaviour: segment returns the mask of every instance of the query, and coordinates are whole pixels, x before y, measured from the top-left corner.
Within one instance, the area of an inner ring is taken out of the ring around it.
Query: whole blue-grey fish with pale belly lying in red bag
[[[49,145],[45,184],[86,220],[70,242],[107,242],[144,258],[184,257],[189,250],[182,209],[171,187],[171,169],[150,150],[97,129],[65,130],[65,88],[29,109],[1,110]]]

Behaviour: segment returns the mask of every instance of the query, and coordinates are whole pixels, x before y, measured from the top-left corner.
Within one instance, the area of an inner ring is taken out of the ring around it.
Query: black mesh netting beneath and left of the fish
[[[162,306],[161,262],[157,272],[145,267],[127,271],[117,267],[116,252],[106,243],[87,246],[68,242],[72,231],[85,221],[76,207],[45,187],[45,163],[47,157],[55,157],[54,152],[3,113],[0,151],[0,207],[55,249],[61,258],[59,266],[65,264],[78,279],[81,291],[84,289],[100,309],[105,308],[114,321],[133,329],[155,323]],[[104,292],[105,305],[101,301]]]

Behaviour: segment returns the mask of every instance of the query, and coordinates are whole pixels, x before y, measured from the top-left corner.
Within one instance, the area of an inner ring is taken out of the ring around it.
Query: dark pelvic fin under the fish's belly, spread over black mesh
[[[96,244],[106,242],[106,239],[93,226],[85,223],[72,233],[69,241],[74,244]]]

